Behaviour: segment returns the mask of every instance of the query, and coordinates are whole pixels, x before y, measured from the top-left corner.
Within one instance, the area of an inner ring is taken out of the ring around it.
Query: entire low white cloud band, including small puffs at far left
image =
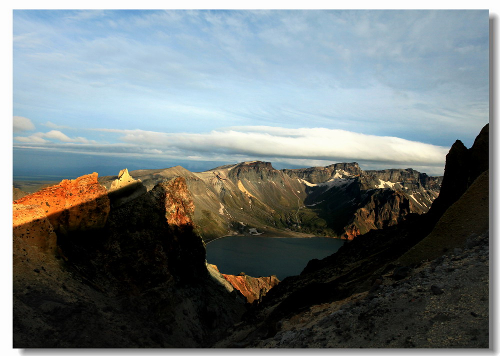
[[[145,130],[96,129],[117,135],[121,143],[78,144],[60,131],[35,134],[20,142],[45,143],[43,147],[110,155],[165,159],[220,161],[267,160],[291,166],[328,165],[356,161],[367,168],[415,168],[442,174],[448,147],[393,136],[366,135],[327,128],[235,126],[206,133],[168,133]],[[109,137],[108,137],[109,138]],[[46,143],[56,139],[62,143]],[[86,143],[84,140],[82,143]],[[88,142],[88,141],[87,141]],[[430,168],[429,167],[433,167]]]

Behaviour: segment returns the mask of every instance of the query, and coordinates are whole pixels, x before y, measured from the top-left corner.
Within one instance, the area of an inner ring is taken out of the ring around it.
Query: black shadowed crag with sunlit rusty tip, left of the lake
[[[103,267],[126,283],[126,288],[138,290],[184,277],[203,279],[205,249],[192,232],[193,211],[185,180],[180,177],[112,209],[99,257]]]

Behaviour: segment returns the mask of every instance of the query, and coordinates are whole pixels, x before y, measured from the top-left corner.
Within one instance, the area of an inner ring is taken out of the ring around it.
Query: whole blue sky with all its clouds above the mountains
[[[487,10],[14,10],[13,176],[358,162],[488,123]]]

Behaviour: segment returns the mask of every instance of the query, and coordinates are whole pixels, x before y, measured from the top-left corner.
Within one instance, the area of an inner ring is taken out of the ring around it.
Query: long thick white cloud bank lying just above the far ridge
[[[241,126],[204,134],[124,130],[127,143],[213,155],[442,165],[448,148],[326,128]]]

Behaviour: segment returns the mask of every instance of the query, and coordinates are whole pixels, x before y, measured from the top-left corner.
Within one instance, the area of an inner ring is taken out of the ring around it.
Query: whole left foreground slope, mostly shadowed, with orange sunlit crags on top
[[[14,348],[198,348],[245,299],[205,266],[182,178],[111,208],[97,174],[14,205]]]

